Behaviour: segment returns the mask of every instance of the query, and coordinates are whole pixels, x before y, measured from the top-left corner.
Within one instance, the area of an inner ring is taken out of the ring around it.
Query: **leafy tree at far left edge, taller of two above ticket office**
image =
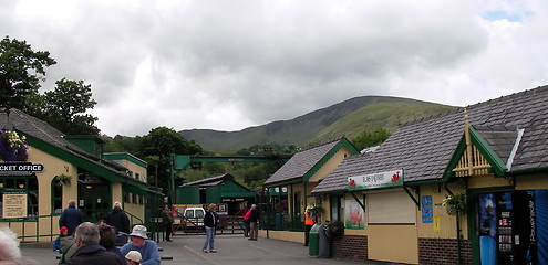
[[[45,67],[55,64],[48,51],[32,51],[25,41],[0,41],[0,105],[27,112],[27,99],[37,95]]]

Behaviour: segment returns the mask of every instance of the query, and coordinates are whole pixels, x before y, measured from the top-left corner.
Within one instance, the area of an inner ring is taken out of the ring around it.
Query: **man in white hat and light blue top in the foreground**
[[[146,227],[144,225],[135,225],[132,233],[130,234],[132,242],[128,242],[120,252],[123,255],[127,255],[131,251],[137,251],[141,253],[143,265],[158,265],[159,264],[159,253],[156,242],[148,240],[146,236]]]

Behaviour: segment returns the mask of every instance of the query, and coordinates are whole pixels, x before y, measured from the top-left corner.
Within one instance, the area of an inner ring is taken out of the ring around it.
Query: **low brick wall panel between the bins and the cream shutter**
[[[368,236],[343,235],[331,239],[331,257],[368,261]]]

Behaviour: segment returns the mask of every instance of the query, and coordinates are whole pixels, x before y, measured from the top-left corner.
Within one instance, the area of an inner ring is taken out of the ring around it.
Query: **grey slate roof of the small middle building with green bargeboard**
[[[333,140],[297,152],[287,161],[278,171],[276,171],[265,186],[271,186],[279,182],[297,180],[304,177],[320,160],[325,157],[342,139]]]

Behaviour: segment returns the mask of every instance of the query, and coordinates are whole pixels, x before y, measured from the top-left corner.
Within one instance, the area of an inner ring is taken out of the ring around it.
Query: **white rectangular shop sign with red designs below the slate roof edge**
[[[348,190],[369,190],[403,186],[403,170],[360,174],[348,178]]]

